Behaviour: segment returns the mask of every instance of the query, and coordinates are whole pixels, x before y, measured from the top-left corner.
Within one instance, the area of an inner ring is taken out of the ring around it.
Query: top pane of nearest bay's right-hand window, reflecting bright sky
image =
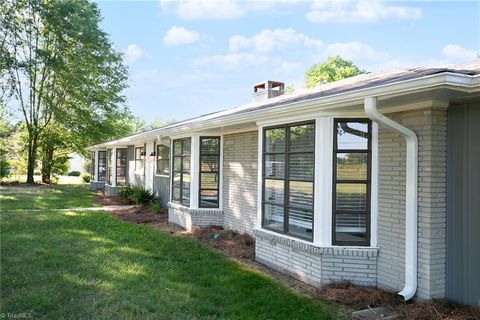
[[[337,124],[337,148],[368,149],[368,123],[339,122]]]

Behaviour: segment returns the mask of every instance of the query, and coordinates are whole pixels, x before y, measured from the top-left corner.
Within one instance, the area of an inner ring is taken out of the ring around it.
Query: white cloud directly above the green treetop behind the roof
[[[322,56],[340,56],[348,60],[381,60],[387,58],[387,53],[377,51],[371,46],[361,42],[336,42],[328,44],[321,53]]]

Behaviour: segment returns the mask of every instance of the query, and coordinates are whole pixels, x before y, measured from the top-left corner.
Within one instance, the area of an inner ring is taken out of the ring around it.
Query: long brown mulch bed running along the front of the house
[[[114,204],[125,204],[116,201],[118,199],[112,200]],[[130,223],[146,224],[164,232],[197,239],[252,269],[272,276],[297,292],[339,305],[341,318],[348,319],[352,310],[387,307],[398,313],[401,319],[480,319],[480,310],[451,304],[443,300],[404,303],[395,293],[355,286],[348,282],[330,284],[321,289],[312,287],[285,273],[275,271],[256,262],[255,240],[250,235],[220,227],[194,228],[189,233],[174,224],[168,223],[167,210],[161,213],[153,213],[147,206],[138,206],[128,210],[116,210],[112,214]]]

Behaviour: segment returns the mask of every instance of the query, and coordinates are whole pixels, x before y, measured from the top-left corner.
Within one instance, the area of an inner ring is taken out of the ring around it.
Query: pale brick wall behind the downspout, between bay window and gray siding
[[[421,298],[445,295],[446,109],[389,114],[419,141],[418,291]],[[378,286],[401,290],[405,268],[405,163],[403,137],[379,128]]]

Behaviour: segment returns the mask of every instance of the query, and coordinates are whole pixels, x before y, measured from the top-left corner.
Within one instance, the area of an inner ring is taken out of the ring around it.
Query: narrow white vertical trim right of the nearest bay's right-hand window
[[[370,177],[370,245],[378,245],[378,124],[372,121],[372,163]]]

